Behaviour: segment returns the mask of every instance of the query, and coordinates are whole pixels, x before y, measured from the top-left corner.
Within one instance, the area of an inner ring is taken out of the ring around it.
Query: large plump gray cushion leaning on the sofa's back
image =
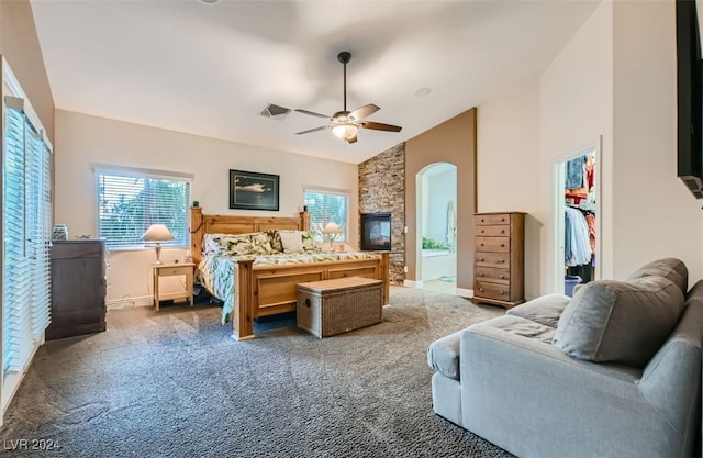
[[[679,286],[663,277],[592,281],[563,310],[554,344],[574,358],[641,368],[671,334],[683,308]]]

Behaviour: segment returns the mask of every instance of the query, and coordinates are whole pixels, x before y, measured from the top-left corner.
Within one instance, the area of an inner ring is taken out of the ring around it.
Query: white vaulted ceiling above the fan
[[[598,0],[32,0],[57,109],[359,163],[537,75]],[[347,144],[324,119],[375,103]]]

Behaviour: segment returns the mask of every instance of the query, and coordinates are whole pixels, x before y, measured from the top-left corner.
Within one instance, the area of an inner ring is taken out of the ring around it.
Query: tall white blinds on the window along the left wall
[[[4,110],[2,369],[25,369],[49,322],[49,150],[23,112]]]

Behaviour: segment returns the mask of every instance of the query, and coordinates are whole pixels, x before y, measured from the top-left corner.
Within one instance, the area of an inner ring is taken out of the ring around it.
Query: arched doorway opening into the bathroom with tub
[[[456,293],[457,288],[457,167],[435,163],[416,177],[417,288]]]

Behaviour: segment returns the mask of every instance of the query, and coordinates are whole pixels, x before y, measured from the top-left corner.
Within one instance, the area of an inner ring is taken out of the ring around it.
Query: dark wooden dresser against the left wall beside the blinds
[[[47,340],[105,331],[104,253],[100,239],[53,242]]]

